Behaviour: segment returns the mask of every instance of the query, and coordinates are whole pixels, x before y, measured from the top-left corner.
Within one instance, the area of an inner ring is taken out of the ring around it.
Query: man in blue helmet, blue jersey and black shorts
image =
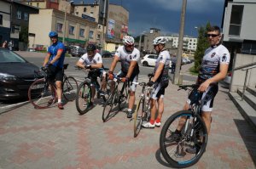
[[[55,82],[57,87],[57,96],[58,96],[58,108],[63,110],[63,104],[61,102],[62,88],[61,83],[63,80],[63,64],[66,54],[65,46],[62,42],[58,41],[58,33],[55,31],[49,32],[49,38],[52,42],[52,45],[48,48],[48,53],[44,59],[43,66],[48,67],[49,71],[49,81]],[[49,104],[54,102],[55,98],[49,100]]]

